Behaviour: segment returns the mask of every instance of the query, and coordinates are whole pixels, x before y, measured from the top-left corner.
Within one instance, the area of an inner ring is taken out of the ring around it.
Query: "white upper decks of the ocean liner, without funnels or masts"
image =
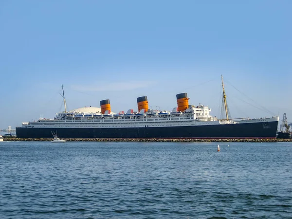
[[[94,108],[92,108],[94,109]],[[98,108],[96,108],[98,109]],[[256,123],[279,121],[278,116],[258,119],[219,120],[210,115],[210,108],[199,105],[190,106],[184,112],[148,110],[146,113],[101,114],[99,111],[82,112],[80,109],[70,112],[56,113],[54,119],[39,118],[35,122],[22,123],[26,128],[135,128],[135,127],[177,127],[177,126],[208,126],[238,123]]]

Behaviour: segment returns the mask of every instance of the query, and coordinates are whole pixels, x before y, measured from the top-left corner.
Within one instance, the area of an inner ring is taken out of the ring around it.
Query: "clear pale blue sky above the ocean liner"
[[[1,0],[0,128],[100,107],[137,110],[176,94],[220,116],[287,113],[292,122],[291,0]]]

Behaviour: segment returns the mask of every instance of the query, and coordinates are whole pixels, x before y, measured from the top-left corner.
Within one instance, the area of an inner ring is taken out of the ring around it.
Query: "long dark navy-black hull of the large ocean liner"
[[[18,138],[276,138],[278,121],[149,128],[16,128]]]

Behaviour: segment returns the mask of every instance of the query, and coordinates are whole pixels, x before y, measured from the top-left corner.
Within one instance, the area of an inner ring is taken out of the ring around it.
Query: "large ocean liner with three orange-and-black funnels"
[[[187,93],[176,95],[177,107],[172,111],[152,110],[147,96],[137,98],[138,110],[113,113],[110,100],[100,101],[100,108],[84,107],[56,113],[54,119],[39,118],[16,127],[18,138],[193,138],[193,139],[275,139],[279,116],[269,118],[237,118],[228,116],[226,94],[221,75],[225,115],[218,119],[210,115],[208,106],[189,105]]]

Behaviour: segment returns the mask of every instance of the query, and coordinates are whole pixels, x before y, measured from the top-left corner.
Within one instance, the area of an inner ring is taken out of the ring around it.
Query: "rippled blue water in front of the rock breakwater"
[[[291,219],[292,143],[1,142],[0,218]]]

